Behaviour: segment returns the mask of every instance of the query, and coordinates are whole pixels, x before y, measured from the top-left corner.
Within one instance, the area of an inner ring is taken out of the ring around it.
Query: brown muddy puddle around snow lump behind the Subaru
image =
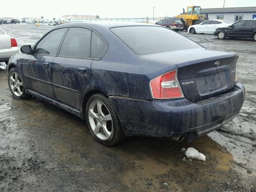
[[[118,175],[122,183],[130,189],[152,192],[184,191],[189,187],[197,190],[204,189],[205,183],[216,182],[224,176],[224,173],[227,174],[232,166],[230,162],[233,159],[232,154],[209,136],[192,142],[158,140],[152,144],[160,147],[158,152],[142,153],[143,145],[140,150],[133,148],[134,152],[138,153],[130,157],[132,166]],[[152,145],[148,147],[152,148]],[[206,162],[188,159],[183,162],[182,158],[185,155],[180,150],[188,147],[194,147],[206,155]],[[154,147],[152,150],[154,151]],[[148,180],[145,180],[145,177]],[[149,185],[149,180],[152,180],[152,185]]]

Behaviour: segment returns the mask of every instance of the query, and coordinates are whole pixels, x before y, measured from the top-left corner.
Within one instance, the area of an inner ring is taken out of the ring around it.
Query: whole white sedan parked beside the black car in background
[[[232,24],[230,21],[226,20],[207,20],[198,25],[192,25],[188,28],[188,33],[209,33],[213,34],[218,27],[228,27]]]

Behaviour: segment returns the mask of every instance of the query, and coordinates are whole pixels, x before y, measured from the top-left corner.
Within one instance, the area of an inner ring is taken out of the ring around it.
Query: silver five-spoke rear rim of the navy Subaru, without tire
[[[89,123],[94,134],[101,140],[110,138],[113,130],[112,117],[107,106],[94,100],[88,110]]]

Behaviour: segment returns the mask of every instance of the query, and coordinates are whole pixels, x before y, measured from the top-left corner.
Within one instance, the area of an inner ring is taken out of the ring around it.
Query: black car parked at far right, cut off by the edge
[[[219,39],[231,38],[253,38],[256,41],[256,20],[241,20],[228,27],[217,28],[214,35]]]

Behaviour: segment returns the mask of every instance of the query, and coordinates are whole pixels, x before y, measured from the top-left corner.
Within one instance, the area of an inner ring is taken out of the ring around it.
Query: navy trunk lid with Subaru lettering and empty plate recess
[[[190,101],[208,98],[234,87],[238,55],[205,48],[151,54],[147,59],[178,67],[178,80]]]

